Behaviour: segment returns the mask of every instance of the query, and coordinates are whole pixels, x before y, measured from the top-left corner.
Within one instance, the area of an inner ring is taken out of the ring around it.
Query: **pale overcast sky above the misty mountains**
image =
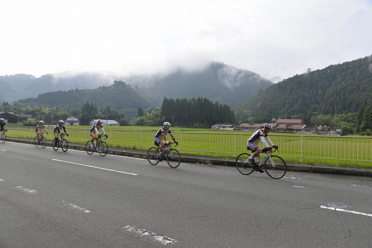
[[[372,0],[5,0],[0,31],[0,75],[218,61],[284,79],[372,54]]]

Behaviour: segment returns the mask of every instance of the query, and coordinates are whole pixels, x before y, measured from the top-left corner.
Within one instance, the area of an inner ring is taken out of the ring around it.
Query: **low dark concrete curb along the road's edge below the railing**
[[[9,138],[8,141],[33,144],[33,140],[28,139],[18,139]],[[47,146],[51,147],[51,141],[48,141]],[[76,150],[85,150],[85,145],[77,143],[69,143],[69,148]],[[128,156],[128,157],[146,157],[147,151],[134,150],[134,149],[124,149],[118,147],[109,147],[108,154]],[[198,163],[198,164],[211,164],[212,166],[229,166],[235,167],[235,160],[232,159],[221,159],[217,157],[207,157],[198,156],[191,154],[181,154],[181,161],[188,163]],[[324,173],[324,174],[337,174],[337,175],[353,175],[353,176],[363,176],[372,177],[372,169],[366,168],[342,168],[342,167],[317,167],[317,166],[299,166],[295,164],[287,164],[287,171],[297,171],[297,172],[311,172],[311,173]]]

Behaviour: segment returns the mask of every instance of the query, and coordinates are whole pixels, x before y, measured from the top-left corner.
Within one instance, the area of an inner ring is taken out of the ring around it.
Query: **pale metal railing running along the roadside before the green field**
[[[84,144],[91,139],[88,129],[66,127],[68,141]],[[53,139],[49,128],[48,140]],[[155,131],[108,129],[109,138],[105,140],[109,146],[127,147],[147,150],[154,143]],[[199,133],[172,132],[182,153],[203,154],[216,157],[236,157],[247,151],[247,139],[250,132],[240,133]],[[34,139],[35,127],[9,128],[8,135]],[[279,146],[278,155],[303,159],[329,159],[372,161],[372,137],[347,137],[329,135],[293,135],[270,133],[270,139]]]

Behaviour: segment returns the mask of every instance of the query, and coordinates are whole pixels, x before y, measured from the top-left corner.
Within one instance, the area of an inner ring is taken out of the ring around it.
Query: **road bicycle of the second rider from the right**
[[[159,157],[159,144],[156,142],[154,143],[156,147],[150,147],[147,150],[147,160],[153,166],[158,164],[158,162],[163,161],[163,158],[167,158],[168,165],[171,168],[177,168],[181,163],[181,155],[177,151],[177,149],[172,148],[172,144],[176,144],[178,146],[178,142],[169,142],[169,145],[164,149],[163,156]],[[175,147],[176,147],[175,146]]]

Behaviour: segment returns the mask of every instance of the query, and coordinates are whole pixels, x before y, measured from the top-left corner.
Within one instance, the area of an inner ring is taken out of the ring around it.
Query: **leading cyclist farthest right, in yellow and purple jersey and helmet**
[[[252,136],[248,139],[247,141],[247,148],[249,148],[250,150],[253,151],[252,155],[249,156],[249,161],[254,165],[256,166],[258,163],[259,163],[259,155],[262,151],[261,148],[259,148],[257,146],[258,142],[261,140],[263,145],[265,145],[266,149],[267,150],[270,150],[271,147],[269,147],[268,143],[272,146],[272,147],[276,147],[277,146],[274,146],[273,142],[270,140],[269,138],[269,135],[268,133],[273,130],[273,126],[268,124],[268,123],[265,123],[263,125],[263,128],[262,129],[258,129],[257,131],[255,131]],[[267,142],[268,143],[267,143]],[[259,166],[258,166],[258,171],[260,173],[264,172]]]

